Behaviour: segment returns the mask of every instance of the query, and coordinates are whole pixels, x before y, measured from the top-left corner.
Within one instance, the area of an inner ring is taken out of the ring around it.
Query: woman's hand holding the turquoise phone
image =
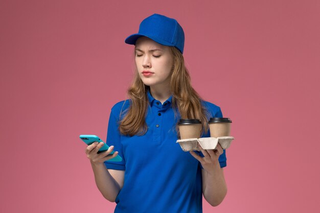
[[[118,155],[119,152],[115,152],[112,155],[109,155],[112,152],[113,148],[115,148],[114,146],[111,146],[107,151],[98,154],[97,152],[103,146],[103,144],[103,142],[98,143],[96,141],[95,143],[86,147],[85,153],[87,155],[87,158],[90,159],[91,163],[101,164],[104,161],[114,158]]]

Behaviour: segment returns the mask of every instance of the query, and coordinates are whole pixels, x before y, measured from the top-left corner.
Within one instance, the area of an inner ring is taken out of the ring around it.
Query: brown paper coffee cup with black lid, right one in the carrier
[[[231,123],[232,121],[228,117],[211,117],[209,121],[210,136],[230,136]]]

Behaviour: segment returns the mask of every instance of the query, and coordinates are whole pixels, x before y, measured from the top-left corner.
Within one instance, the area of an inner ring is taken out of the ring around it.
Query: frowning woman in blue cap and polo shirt
[[[115,212],[202,212],[202,193],[212,206],[225,197],[221,146],[188,153],[176,143],[178,119],[200,119],[202,137],[210,137],[209,117],[222,117],[220,107],[202,101],[190,84],[184,40],[179,23],[159,14],[125,40],[135,46],[130,100],[111,109],[108,151],[97,154],[103,143],[86,148],[97,186],[117,203]],[[106,161],[118,153],[121,162]]]

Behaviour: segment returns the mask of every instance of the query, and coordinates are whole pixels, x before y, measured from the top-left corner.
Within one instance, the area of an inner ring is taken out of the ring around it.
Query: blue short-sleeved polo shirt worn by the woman
[[[202,212],[201,163],[176,143],[174,117],[170,97],[164,104],[148,91],[150,106],[146,123],[148,131],[142,136],[121,135],[118,130],[120,112],[129,107],[122,101],[112,107],[107,145],[115,146],[121,162],[105,161],[107,169],[125,170],[124,185],[116,198],[115,213],[124,212]],[[203,101],[211,117],[222,117],[220,107]],[[202,137],[210,137],[208,134]],[[202,153],[195,151],[197,154]],[[225,150],[219,156],[220,167],[226,166]]]

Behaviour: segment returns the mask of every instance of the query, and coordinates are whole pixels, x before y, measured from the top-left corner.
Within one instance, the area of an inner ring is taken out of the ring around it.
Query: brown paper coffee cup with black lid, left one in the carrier
[[[178,126],[181,139],[200,137],[202,126],[199,119],[180,119]]]

